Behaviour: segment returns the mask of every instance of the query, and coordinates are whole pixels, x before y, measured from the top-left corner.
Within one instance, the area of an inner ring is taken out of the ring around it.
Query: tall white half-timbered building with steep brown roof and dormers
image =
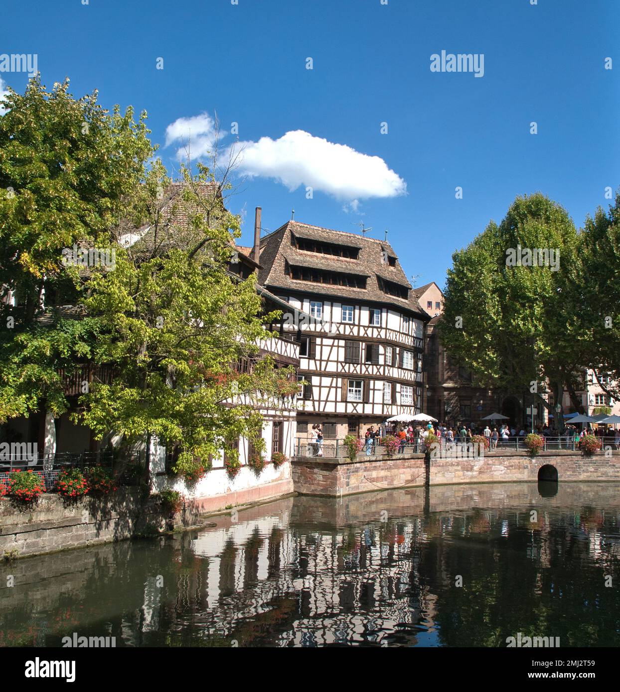
[[[378,239],[287,221],[260,239],[259,283],[301,342],[297,430],[326,439],[420,411],[424,324],[398,256]]]

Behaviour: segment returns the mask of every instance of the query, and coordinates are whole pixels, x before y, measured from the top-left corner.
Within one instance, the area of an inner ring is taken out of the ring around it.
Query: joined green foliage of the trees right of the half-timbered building
[[[580,408],[585,368],[618,372],[617,210],[618,200],[610,215],[599,210],[578,233],[544,195],[517,197],[499,225],[490,221],[454,253],[439,330],[477,383],[534,390],[548,408],[540,396],[547,386],[555,401],[566,388]],[[507,260],[517,248],[556,251],[557,271],[551,261],[513,266]],[[603,316],[612,313],[614,329],[605,329]]]

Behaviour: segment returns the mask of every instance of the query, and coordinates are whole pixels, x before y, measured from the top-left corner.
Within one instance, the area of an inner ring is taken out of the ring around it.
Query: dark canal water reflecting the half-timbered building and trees
[[[285,498],[0,564],[0,646],[620,646],[620,485]],[[9,586],[8,584],[14,585]]]

